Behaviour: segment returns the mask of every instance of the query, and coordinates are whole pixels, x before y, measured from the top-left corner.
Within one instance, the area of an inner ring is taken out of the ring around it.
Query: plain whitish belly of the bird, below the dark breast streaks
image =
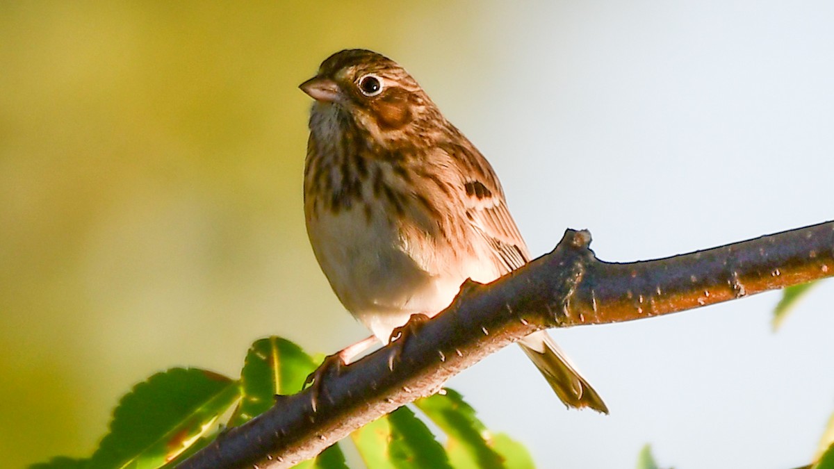
[[[339,300],[384,342],[411,315],[443,310],[469,276],[459,265],[450,270],[448,262],[438,262],[447,254],[445,246],[406,240],[381,212],[370,225],[363,209],[307,223],[316,258]]]

